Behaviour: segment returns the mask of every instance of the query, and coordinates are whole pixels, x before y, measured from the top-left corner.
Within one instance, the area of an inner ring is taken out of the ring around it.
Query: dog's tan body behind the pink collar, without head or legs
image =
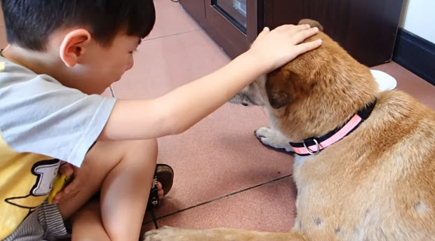
[[[352,135],[295,169],[312,240],[435,240],[435,112],[382,92]]]

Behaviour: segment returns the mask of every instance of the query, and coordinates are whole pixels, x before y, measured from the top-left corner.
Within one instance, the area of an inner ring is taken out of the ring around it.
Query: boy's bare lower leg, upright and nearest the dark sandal
[[[102,221],[111,240],[138,240],[156,159],[157,142],[139,142],[103,181]]]

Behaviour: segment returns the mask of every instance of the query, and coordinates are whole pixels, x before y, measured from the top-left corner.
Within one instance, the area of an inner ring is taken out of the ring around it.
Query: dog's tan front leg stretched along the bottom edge
[[[300,233],[263,233],[232,228],[183,229],[165,226],[145,233],[144,241],[292,241],[306,240]]]

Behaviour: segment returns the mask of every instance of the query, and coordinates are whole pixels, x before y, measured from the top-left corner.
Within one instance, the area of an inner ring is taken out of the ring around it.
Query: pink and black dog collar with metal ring
[[[321,137],[311,137],[304,139],[303,142],[293,143],[290,142],[290,146],[293,147],[295,153],[299,156],[311,156],[317,155],[326,147],[340,141],[365,121],[376,105],[376,99],[370,103],[366,108],[358,111],[352,118],[349,119],[342,127],[335,128],[335,130],[328,132],[328,134]]]

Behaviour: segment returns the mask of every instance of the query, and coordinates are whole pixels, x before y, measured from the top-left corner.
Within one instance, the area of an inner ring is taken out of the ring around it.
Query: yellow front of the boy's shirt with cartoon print
[[[0,240],[46,200],[59,166],[58,159],[13,151],[0,135]]]

